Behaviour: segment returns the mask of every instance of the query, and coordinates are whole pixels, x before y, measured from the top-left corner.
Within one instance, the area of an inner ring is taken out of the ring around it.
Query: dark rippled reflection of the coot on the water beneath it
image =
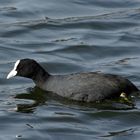
[[[47,105],[47,102],[49,102],[50,100],[59,101],[59,103],[62,103],[63,105],[66,105],[70,108],[78,107],[79,109],[86,109],[86,110],[88,109],[128,110],[128,109],[135,108],[135,105],[133,103],[128,104],[127,102],[120,102],[120,100],[105,100],[103,102],[94,102],[94,103],[72,101],[64,97],[60,97],[52,92],[43,91],[38,87],[29,88],[27,90],[27,93],[17,94],[15,98],[33,101],[32,103],[28,103],[28,104],[25,102],[17,104],[17,108],[16,108],[17,112],[22,112],[22,113],[33,113],[38,106],[44,104]]]

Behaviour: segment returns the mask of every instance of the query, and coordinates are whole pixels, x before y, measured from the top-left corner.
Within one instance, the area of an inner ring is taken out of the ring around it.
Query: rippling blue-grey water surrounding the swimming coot
[[[33,58],[51,74],[114,73],[140,88],[139,39],[138,0],[1,0],[0,139],[139,140],[139,98],[134,108],[81,105],[6,79]]]

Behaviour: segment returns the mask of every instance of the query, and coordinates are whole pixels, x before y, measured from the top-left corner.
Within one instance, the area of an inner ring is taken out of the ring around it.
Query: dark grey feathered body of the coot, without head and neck
[[[122,92],[129,95],[138,91],[123,77],[95,72],[50,76],[42,88],[62,97],[86,102],[119,97]]]

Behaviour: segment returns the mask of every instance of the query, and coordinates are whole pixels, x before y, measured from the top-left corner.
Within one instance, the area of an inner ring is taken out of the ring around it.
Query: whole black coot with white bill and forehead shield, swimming
[[[7,79],[21,76],[30,78],[36,86],[68,99],[94,102],[127,96],[139,91],[128,79],[113,74],[96,72],[51,75],[33,59],[17,60]]]

